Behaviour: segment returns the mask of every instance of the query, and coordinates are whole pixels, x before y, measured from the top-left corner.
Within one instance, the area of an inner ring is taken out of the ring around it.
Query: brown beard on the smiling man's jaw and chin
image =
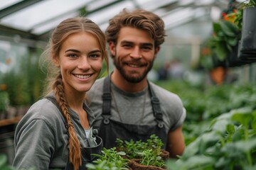
[[[122,77],[124,77],[124,79],[126,79],[130,83],[139,83],[140,81],[142,81],[149,73],[154,64],[154,61],[149,62],[147,69],[142,74],[139,74],[139,76],[133,76],[133,74],[138,74],[138,72],[127,72],[124,67],[122,67],[122,62],[120,62],[117,57],[113,57],[113,61],[114,66],[117,68]]]

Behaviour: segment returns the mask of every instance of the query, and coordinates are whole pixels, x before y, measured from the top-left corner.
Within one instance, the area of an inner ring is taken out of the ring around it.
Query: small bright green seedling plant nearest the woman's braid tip
[[[103,148],[102,155],[93,154],[99,159],[97,159],[93,164],[87,164],[86,167],[88,170],[104,170],[104,169],[113,169],[113,170],[126,170],[128,167],[128,159],[124,159],[124,152],[117,152],[115,147],[110,149]]]

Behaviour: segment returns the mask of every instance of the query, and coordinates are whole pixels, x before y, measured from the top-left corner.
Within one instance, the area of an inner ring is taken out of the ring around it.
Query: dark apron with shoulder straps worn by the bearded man
[[[163,149],[166,148],[167,134],[166,128],[164,128],[163,113],[160,108],[159,99],[154,94],[153,89],[150,88],[149,93],[151,96],[151,104],[153,108],[154,118],[156,125],[131,125],[120,123],[111,120],[111,80],[110,77],[106,77],[103,87],[103,106],[102,106],[102,123],[99,129],[99,136],[103,139],[103,147],[110,149],[116,147],[116,140],[142,140],[146,142],[150,138],[150,135],[155,134],[164,143]]]

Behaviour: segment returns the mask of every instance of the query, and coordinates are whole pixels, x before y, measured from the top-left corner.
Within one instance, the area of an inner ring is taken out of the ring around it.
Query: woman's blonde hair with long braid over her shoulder
[[[105,57],[105,61],[107,62],[108,70],[105,35],[97,24],[92,22],[90,19],[82,17],[68,18],[65,21],[62,21],[55,30],[53,30],[48,42],[48,47],[46,48],[46,51],[43,52],[40,60],[41,69],[47,72],[48,77],[46,80],[46,89],[44,94],[47,95],[50,91],[54,91],[60,110],[67,122],[69,134],[69,161],[73,164],[74,169],[79,169],[79,166],[82,163],[80,142],[68,111],[68,103],[65,98],[62,75],[60,73],[60,69],[55,67],[53,64],[53,59],[58,57],[61,45],[65,39],[71,34],[80,32],[87,32],[95,35],[97,40],[100,42],[100,49],[102,50],[102,55]]]

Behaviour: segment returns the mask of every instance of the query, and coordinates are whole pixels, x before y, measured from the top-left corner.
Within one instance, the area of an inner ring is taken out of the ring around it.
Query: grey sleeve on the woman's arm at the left
[[[22,122],[16,128],[16,156],[13,166],[17,169],[48,169],[54,152],[54,133],[43,119]]]

